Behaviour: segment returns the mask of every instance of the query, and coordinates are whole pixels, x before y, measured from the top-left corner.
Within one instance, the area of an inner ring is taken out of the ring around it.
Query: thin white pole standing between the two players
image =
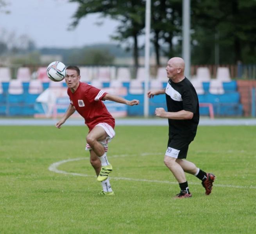
[[[144,117],[149,116],[149,98],[147,92],[149,90],[150,78],[150,16],[151,16],[151,0],[146,1],[145,13],[145,80],[144,80]]]

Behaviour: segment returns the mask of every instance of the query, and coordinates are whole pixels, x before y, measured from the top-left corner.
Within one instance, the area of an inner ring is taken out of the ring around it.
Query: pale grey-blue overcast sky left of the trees
[[[68,0],[5,0],[10,14],[0,13],[0,29],[27,34],[38,48],[69,48],[93,43],[111,42],[118,22],[92,14],[83,18],[75,30],[68,31],[78,5]],[[96,22],[102,22],[97,26]],[[1,35],[0,35],[1,37]]]

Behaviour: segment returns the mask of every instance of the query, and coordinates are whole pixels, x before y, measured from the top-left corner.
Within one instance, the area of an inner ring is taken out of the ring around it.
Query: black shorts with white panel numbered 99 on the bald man
[[[188,153],[188,145],[190,143],[190,140],[184,141],[181,139],[169,138],[165,155],[172,158],[186,158]]]

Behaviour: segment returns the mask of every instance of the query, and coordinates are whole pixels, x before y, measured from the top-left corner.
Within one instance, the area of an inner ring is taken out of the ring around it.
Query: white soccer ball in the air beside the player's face
[[[51,62],[47,67],[47,76],[50,80],[62,81],[66,76],[66,66],[62,62]]]

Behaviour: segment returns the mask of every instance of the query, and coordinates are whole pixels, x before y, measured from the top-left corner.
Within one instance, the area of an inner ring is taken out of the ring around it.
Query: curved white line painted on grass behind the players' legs
[[[160,154],[160,153],[159,153]],[[161,153],[162,154],[162,153]],[[152,155],[152,153],[144,153],[141,154],[141,156],[145,155]],[[117,158],[117,157],[127,157],[127,156],[137,156],[137,154],[121,154],[121,155],[113,155],[109,158]],[[90,176],[86,174],[79,174],[79,173],[73,173],[73,172],[66,172],[63,170],[57,169],[60,165],[72,161],[80,161],[80,160],[88,160],[89,158],[72,158],[72,159],[67,159],[67,160],[62,160],[58,161],[56,163],[52,163],[48,170],[51,172],[59,173],[59,174],[65,174],[65,175],[72,175],[72,176],[82,176],[82,177],[96,177],[96,176]],[[126,180],[126,181],[141,181],[141,182],[149,182],[149,183],[163,183],[163,184],[177,184],[177,182],[172,182],[172,181],[158,181],[158,180],[149,180],[149,179],[133,179],[133,178],[127,178],[127,177],[109,177],[109,179],[115,179],[115,180]],[[201,183],[193,183],[190,182],[190,184],[195,184],[195,185],[200,185]],[[239,186],[239,185],[231,185],[231,184],[214,184],[215,187],[222,187],[222,188],[252,188],[255,189],[256,186]]]

